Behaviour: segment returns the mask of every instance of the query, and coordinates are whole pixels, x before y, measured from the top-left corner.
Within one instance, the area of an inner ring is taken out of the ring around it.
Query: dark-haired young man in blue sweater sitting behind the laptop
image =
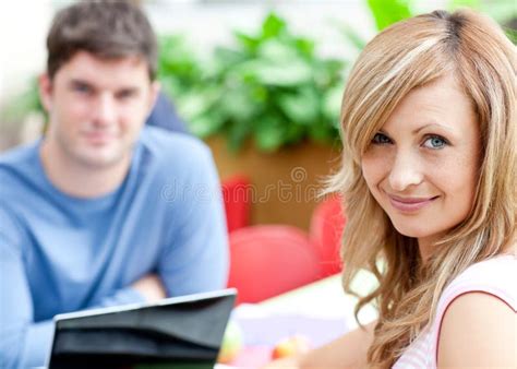
[[[226,285],[208,148],[144,127],[156,39],[124,2],[59,12],[47,39],[44,139],[0,156],[0,367],[41,366],[57,313]]]

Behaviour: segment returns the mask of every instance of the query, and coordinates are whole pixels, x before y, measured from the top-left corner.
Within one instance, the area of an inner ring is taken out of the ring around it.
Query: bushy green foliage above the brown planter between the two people
[[[163,48],[164,87],[194,134],[221,133],[235,151],[253,138],[264,152],[306,139],[338,139],[342,60],[318,57],[312,39],[292,35],[273,13],[258,33],[235,32],[235,40],[233,47],[217,47],[201,66],[193,57],[175,63],[176,51],[170,48],[167,57]],[[178,39],[163,41],[183,53]]]

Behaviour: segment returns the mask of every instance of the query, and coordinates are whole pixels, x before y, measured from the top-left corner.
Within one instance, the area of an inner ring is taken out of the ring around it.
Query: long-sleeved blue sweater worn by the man
[[[45,175],[40,141],[0,156],[0,368],[41,366],[57,313],[140,302],[158,273],[169,296],[224,288],[220,184],[208,148],[145,128],[112,193],[77,199]]]

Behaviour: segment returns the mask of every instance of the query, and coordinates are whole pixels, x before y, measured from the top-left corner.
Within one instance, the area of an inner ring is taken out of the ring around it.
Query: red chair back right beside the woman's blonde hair
[[[312,214],[309,235],[321,257],[324,276],[342,270],[339,250],[346,222],[340,195],[326,198]]]

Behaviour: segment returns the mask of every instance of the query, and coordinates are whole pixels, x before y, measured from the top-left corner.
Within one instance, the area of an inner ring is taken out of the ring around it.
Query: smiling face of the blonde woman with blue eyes
[[[363,155],[370,191],[422,257],[471,210],[480,141],[470,100],[445,76],[410,92]]]

